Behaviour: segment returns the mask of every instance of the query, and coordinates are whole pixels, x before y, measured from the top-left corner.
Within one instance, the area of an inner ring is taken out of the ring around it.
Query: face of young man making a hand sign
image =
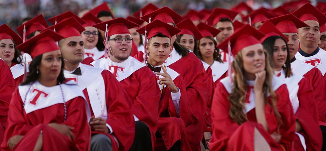
[[[154,61],[159,65],[164,63],[172,50],[173,46],[171,46],[171,40],[168,37],[150,38],[148,44],[146,45],[148,60]]]

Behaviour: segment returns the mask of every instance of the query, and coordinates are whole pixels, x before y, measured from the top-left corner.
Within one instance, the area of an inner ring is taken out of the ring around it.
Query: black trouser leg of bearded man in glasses
[[[152,136],[142,121],[135,122],[135,139],[129,151],[152,151]]]

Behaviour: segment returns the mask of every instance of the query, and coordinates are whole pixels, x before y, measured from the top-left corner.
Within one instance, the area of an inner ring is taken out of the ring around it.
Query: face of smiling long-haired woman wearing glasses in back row
[[[94,47],[96,47],[96,44],[98,42],[98,30],[92,26],[86,26],[85,29],[86,31],[82,32],[82,40],[84,42],[84,48],[93,49]],[[96,32],[97,35],[92,34]]]

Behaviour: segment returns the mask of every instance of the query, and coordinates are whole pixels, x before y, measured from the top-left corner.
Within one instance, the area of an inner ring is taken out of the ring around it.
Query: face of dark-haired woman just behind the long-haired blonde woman
[[[276,39],[274,43],[273,49],[273,62],[274,69],[279,69],[284,66],[286,62],[286,58],[288,57],[288,52],[286,48],[286,44],[282,39]]]

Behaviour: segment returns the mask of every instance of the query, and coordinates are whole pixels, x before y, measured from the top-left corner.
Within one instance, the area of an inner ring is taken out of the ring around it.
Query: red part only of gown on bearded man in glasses
[[[119,82],[132,100],[132,114],[147,124],[152,134],[152,147],[157,130],[158,100],[160,90],[151,69],[142,67]]]

